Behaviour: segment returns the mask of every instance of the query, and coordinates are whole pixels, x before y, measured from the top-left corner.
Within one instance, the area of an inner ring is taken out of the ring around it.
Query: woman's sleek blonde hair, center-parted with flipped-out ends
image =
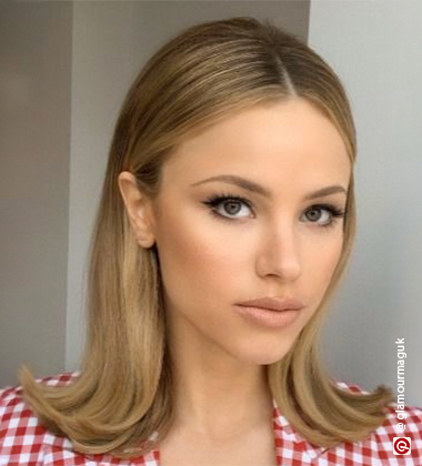
[[[352,165],[355,129],[334,71],[307,44],[271,21],[249,17],[191,27],[150,58],[123,102],[90,245],[88,335],[73,384],[38,384],[23,366],[26,401],[47,428],[81,453],[127,458],[148,453],[173,419],[172,366],[155,245],[140,249],[118,189],[122,171],[157,199],[161,166],[178,144],[253,105],[302,98],[335,124]],[[324,298],[289,353],[268,366],[281,412],[310,443],[358,442],[384,419],[390,388],[353,394],[320,363],[319,332],[344,273],[355,234],[353,171],[343,250]]]

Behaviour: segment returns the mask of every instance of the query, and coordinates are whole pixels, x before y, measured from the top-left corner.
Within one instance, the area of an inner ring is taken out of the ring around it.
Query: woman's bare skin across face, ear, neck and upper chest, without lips
[[[283,358],[316,311],[343,243],[343,219],[324,226],[333,219],[321,204],[344,210],[346,194],[305,196],[332,185],[346,191],[350,171],[335,126],[295,99],[185,141],[163,166],[161,216],[133,176],[120,173],[134,235],[143,247],[157,242],[164,284],[177,415],[160,445],[161,466],[277,464],[265,366]],[[271,197],[222,181],[197,184],[220,174],[259,183]],[[250,205],[225,201],[212,213],[204,202],[215,194]],[[233,310],[284,295],[305,307],[283,328],[251,324]]]

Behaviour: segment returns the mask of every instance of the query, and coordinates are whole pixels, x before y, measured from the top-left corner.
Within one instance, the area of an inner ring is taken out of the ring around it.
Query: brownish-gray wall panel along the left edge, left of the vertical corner
[[[66,363],[72,8],[0,4],[0,386]]]

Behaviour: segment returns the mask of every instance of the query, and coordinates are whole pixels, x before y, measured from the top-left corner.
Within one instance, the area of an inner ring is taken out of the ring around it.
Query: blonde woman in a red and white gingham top
[[[320,363],[355,155],[336,74],[271,22],[210,21],[162,47],[117,122],[82,369],[22,368],[1,396],[0,464],[418,462],[422,411],[403,407],[413,445],[396,456],[392,391]]]

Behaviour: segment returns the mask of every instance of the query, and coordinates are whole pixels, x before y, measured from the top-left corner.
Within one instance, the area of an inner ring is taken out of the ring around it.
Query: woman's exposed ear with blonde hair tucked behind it
[[[132,173],[121,172],[118,183],[138,244],[142,247],[153,246],[155,241],[151,201],[141,193]]]

